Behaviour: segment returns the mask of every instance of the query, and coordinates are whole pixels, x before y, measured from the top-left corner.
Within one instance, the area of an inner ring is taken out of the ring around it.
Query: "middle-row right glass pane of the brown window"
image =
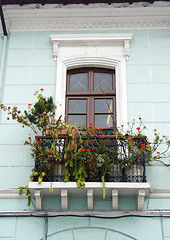
[[[113,112],[112,99],[95,99],[95,113],[111,113]]]

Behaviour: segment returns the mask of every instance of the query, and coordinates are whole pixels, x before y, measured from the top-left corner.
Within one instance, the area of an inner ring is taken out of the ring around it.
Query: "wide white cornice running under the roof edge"
[[[69,31],[170,28],[170,6],[167,7],[95,7],[70,6],[24,8],[5,6],[9,31]]]

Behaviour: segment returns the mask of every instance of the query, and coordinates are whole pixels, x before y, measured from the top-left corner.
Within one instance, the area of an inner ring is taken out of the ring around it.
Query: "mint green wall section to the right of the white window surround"
[[[127,62],[128,119],[142,117],[151,139],[155,128],[170,136],[170,30],[146,30],[141,38],[135,36]],[[151,188],[170,188],[169,178],[162,164],[147,167]]]

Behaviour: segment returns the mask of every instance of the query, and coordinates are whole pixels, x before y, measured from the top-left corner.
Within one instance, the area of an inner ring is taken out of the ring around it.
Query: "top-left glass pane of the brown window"
[[[70,74],[69,91],[87,91],[88,73]]]

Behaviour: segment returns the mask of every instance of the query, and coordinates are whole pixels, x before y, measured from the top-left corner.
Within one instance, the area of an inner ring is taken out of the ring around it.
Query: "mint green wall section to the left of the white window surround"
[[[36,100],[34,93],[40,88],[44,88],[44,95],[55,97],[56,63],[49,37],[44,39],[41,33],[32,32],[10,33],[8,42],[3,103],[27,109]],[[0,188],[25,186],[33,162],[24,141],[31,132],[12,120],[7,121],[6,113],[1,114]]]

